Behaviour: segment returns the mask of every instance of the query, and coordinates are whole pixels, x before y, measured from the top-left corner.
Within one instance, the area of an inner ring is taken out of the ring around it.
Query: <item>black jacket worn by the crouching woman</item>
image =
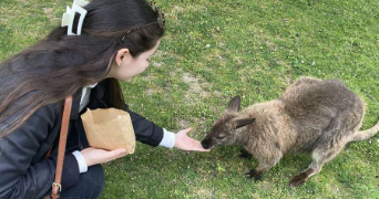
[[[112,107],[112,100],[106,93],[107,87],[105,80],[92,88],[89,108]],[[82,113],[79,113],[81,91],[73,98],[62,174],[63,190],[79,181],[79,165],[71,153],[86,147],[86,143],[83,142],[85,134],[80,118]],[[136,139],[151,146],[157,146],[163,138],[163,129],[131,112],[126,105],[125,107],[131,115]],[[63,103],[43,106],[17,130],[0,138],[0,199],[42,198],[51,189],[55,175]],[[45,159],[44,156],[51,146],[54,146],[53,151]]]

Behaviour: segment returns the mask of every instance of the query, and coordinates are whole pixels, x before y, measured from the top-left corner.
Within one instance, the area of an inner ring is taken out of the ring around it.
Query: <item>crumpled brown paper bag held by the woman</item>
[[[127,112],[88,108],[81,117],[90,146],[107,150],[125,148],[127,154],[134,153],[135,134]]]

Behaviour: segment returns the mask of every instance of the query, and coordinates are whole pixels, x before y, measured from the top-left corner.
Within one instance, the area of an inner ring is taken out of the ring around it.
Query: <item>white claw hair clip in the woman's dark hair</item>
[[[63,17],[62,17],[61,27],[69,27],[68,35],[80,35],[82,33],[83,21],[86,14],[86,10],[83,9],[82,7],[86,6],[88,3],[89,2],[84,0],[74,0],[71,9],[69,6],[66,7],[66,11],[65,13],[63,13]],[[80,13],[80,19],[78,22],[76,34],[74,34],[72,32],[72,27],[73,27],[73,21],[74,21],[76,12]]]

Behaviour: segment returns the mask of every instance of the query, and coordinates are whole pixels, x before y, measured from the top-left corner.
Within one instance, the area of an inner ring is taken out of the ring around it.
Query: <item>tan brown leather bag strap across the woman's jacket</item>
[[[51,198],[53,199],[58,199],[60,196],[60,192],[62,191],[61,179],[62,179],[63,160],[64,160],[64,154],[65,154],[65,143],[68,139],[68,132],[69,132],[71,106],[72,106],[72,95],[65,97],[64,100],[61,135],[59,138],[59,146],[58,146],[55,180],[52,184],[52,191],[51,191]]]

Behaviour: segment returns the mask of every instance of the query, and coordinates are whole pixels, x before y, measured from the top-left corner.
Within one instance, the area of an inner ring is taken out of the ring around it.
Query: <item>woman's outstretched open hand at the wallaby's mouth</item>
[[[175,134],[175,147],[182,150],[209,151],[211,149],[203,148],[201,142],[187,136],[191,130],[187,128]]]

